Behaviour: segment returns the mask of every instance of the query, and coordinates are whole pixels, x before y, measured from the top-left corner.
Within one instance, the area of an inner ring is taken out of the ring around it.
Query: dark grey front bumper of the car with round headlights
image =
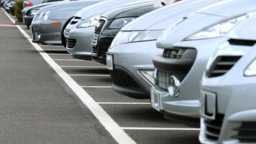
[[[60,26],[51,25],[52,23],[60,23]],[[62,30],[66,20],[47,20],[46,23],[32,23],[32,42],[45,45],[62,45]],[[40,33],[40,38],[36,37],[36,33]]]

